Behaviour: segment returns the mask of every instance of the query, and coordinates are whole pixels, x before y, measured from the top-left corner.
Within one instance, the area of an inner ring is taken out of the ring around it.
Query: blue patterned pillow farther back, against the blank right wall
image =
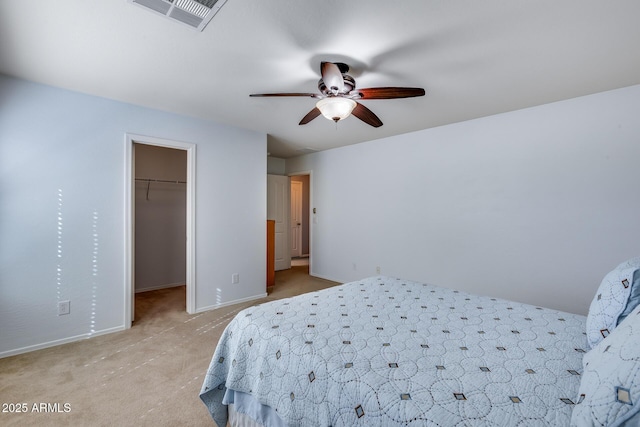
[[[587,341],[591,348],[613,332],[623,313],[626,317],[635,308],[633,304],[638,304],[632,299],[629,305],[632,290],[637,288],[634,276],[640,275],[636,274],[638,270],[640,257],[623,262],[602,280],[587,315]],[[637,297],[638,289],[633,294]]]

